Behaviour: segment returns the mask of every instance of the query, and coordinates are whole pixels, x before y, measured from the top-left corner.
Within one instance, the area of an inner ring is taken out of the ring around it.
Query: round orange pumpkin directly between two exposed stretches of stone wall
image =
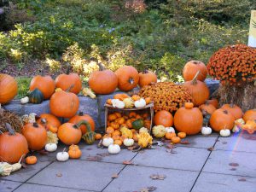
[[[71,118],[79,110],[79,97],[64,90],[57,91],[49,99],[49,109],[57,117]]]

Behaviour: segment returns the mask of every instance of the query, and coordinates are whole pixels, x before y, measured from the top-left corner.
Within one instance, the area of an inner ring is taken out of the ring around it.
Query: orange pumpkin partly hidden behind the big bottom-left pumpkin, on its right
[[[47,143],[47,131],[44,129],[44,126],[38,125],[38,123],[24,125],[21,133],[26,137],[28,148],[32,150],[40,150]]]

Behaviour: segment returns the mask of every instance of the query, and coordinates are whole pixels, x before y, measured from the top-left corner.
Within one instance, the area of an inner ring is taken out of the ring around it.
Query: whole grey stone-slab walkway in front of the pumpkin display
[[[172,153],[156,147],[108,155],[106,148],[82,143],[80,160],[57,162],[55,153],[38,155],[36,165],[1,177],[0,191],[256,192],[255,133],[186,140],[189,144],[177,145]],[[123,164],[125,160],[132,164]]]

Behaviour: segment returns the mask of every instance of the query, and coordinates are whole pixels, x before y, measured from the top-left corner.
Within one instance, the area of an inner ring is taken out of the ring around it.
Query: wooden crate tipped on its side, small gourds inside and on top
[[[154,102],[148,103],[144,108],[113,108],[112,105],[109,105],[105,103],[105,131],[107,128],[107,122],[108,122],[108,113],[114,113],[114,112],[119,112],[119,113],[130,113],[131,111],[135,111],[137,113],[145,113],[148,112],[150,114],[150,130],[149,133],[151,132],[152,125],[153,125],[153,119],[154,119]]]

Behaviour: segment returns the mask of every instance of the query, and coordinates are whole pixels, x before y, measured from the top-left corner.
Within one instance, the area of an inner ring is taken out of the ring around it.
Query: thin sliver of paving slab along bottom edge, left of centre
[[[38,185],[31,183],[24,183],[18,189],[15,189],[14,192],[93,192],[92,190],[84,189],[67,189],[46,185]],[[2,192],[2,191],[1,191]]]

